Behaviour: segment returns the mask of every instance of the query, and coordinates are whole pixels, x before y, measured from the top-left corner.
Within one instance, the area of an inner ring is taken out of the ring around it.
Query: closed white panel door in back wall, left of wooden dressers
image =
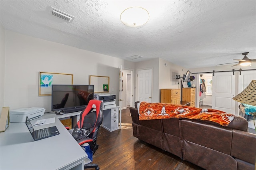
[[[138,70],[138,101],[152,102],[152,69]]]

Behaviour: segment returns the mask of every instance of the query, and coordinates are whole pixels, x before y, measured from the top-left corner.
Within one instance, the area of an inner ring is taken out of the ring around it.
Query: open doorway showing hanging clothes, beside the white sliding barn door
[[[212,73],[199,76],[199,108],[212,108]]]

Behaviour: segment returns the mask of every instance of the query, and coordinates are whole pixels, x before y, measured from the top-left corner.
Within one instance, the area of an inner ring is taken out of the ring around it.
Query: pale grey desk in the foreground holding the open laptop
[[[38,119],[47,119],[47,116]],[[31,121],[32,125],[36,122]],[[86,152],[62,123],[33,126],[36,129],[56,126],[60,134],[34,141],[25,123],[10,123],[0,133],[1,170],[83,170]]]

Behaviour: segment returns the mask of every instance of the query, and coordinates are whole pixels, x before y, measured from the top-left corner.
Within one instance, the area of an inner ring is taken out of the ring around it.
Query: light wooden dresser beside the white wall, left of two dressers
[[[161,89],[160,102],[180,104],[180,89]]]

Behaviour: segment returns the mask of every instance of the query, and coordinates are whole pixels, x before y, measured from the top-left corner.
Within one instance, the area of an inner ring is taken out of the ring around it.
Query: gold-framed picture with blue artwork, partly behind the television
[[[39,96],[52,95],[52,84],[72,85],[73,74],[39,72]]]

